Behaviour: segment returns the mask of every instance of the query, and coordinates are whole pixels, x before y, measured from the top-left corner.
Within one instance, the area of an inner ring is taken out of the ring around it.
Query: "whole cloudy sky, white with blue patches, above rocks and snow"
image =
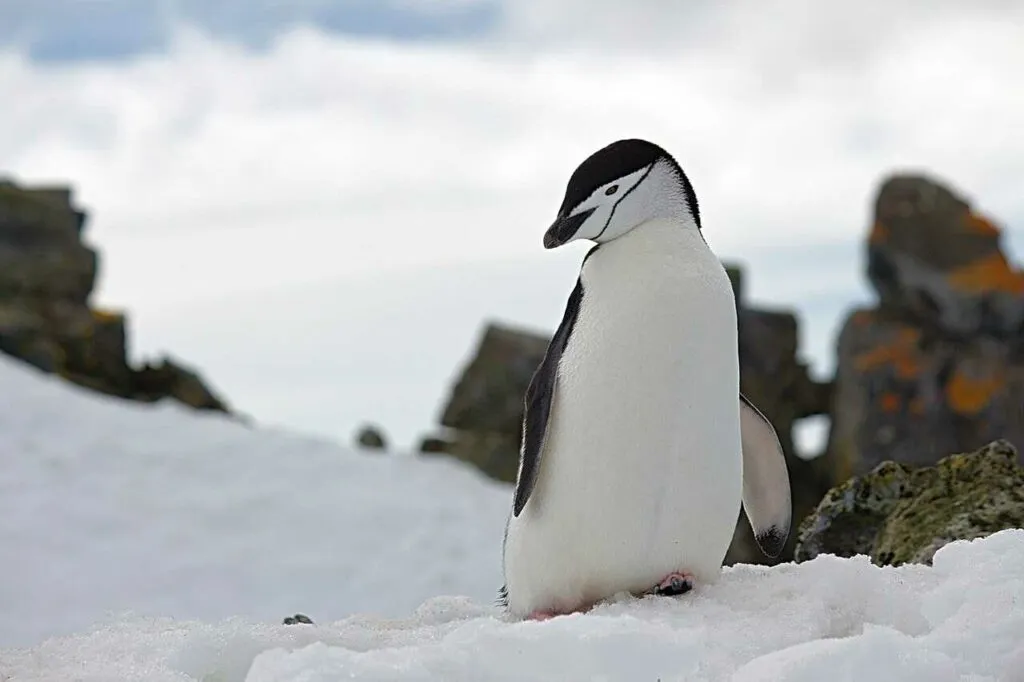
[[[409,444],[486,319],[558,322],[541,235],[607,142],[668,147],[824,374],[878,183],[1024,250],[1015,0],[0,0],[0,175],[70,182],[98,301],[240,410]]]

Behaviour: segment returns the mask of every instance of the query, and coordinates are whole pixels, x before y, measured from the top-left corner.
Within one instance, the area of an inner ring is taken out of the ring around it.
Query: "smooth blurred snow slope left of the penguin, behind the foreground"
[[[510,496],[449,459],[105,398],[0,354],[0,647],[126,609],[280,623],[485,602]]]

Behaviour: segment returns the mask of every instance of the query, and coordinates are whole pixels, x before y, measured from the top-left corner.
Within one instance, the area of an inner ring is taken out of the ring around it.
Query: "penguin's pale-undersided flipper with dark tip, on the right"
[[[739,430],[743,449],[743,511],[761,551],[774,558],[782,552],[793,517],[785,455],[771,422],[742,393]]]

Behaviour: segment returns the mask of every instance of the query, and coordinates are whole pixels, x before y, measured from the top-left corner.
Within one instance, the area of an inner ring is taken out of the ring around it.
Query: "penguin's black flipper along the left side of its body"
[[[526,389],[522,444],[519,447],[519,476],[516,480],[515,502],[512,510],[515,516],[518,516],[523,507],[526,506],[526,501],[529,500],[529,495],[537,484],[537,475],[541,470],[541,450],[544,447],[548,418],[551,416],[551,402],[555,395],[558,363],[580,314],[582,300],[583,282],[578,279],[572,293],[569,294],[569,300],[565,304],[562,322],[555,330],[555,335],[548,344],[544,359],[534,372],[529,387]]]

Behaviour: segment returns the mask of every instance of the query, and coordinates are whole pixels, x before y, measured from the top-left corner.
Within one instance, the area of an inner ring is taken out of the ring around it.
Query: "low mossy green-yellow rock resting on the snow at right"
[[[934,467],[884,462],[829,491],[800,526],[797,561],[867,555],[880,565],[931,563],[955,540],[1024,527],[1024,468],[994,440]]]

